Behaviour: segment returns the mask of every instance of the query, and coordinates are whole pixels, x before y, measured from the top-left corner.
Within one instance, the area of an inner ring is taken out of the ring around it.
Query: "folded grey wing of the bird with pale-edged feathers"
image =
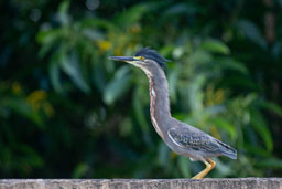
[[[220,145],[212,136],[199,129],[191,127],[173,127],[167,130],[170,138],[180,147],[207,151],[220,153]]]

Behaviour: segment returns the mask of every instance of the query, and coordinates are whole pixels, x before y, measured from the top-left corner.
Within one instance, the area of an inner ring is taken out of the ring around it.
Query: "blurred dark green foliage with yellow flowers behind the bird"
[[[149,117],[142,46],[174,117],[238,149],[209,177],[282,175],[281,0],[0,2],[1,178],[187,178]]]

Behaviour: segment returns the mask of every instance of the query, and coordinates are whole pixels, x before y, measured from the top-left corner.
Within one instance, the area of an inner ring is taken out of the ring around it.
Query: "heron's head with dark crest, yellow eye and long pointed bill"
[[[163,69],[166,66],[165,62],[170,62],[155,50],[149,48],[139,50],[134,56],[109,56],[109,59],[113,61],[124,61],[144,71],[151,71],[155,66]]]

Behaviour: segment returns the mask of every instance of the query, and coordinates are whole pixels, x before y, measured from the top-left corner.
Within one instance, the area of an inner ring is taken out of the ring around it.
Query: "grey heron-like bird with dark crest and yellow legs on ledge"
[[[170,60],[150,48],[140,49],[134,56],[109,56],[109,60],[129,63],[145,73],[150,86],[150,117],[154,129],[171,150],[206,166],[192,179],[203,179],[214,169],[214,157],[237,159],[236,149],[171,115],[169,86],[164,73]]]

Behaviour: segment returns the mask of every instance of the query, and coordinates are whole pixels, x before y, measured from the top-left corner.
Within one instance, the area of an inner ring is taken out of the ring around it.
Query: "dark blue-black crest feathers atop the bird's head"
[[[145,59],[150,59],[155,61],[161,67],[166,67],[165,62],[171,62],[170,60],[163,57],[155,50],[151,50],[150,48],[143,48],[135,53],[135,56],[143,56]]]

